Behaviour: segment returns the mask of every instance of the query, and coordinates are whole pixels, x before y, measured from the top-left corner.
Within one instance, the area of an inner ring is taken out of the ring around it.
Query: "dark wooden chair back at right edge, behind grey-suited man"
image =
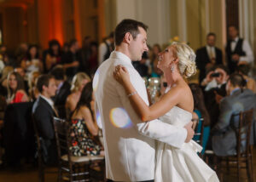
[[[253,109],[239,114],[239,127],[236,129],[237,156],[244,156],[250,152],[250,137],[253,124]]]

